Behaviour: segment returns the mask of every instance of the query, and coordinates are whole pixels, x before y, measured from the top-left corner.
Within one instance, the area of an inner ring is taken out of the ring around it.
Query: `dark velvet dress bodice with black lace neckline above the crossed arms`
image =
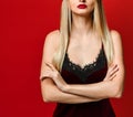
[[[108,62],[102,47],[96,60],[83,67],[71,62],[68,54],[65,54],[61,75],[69,84],[91,84],[103,81],[106,71]]]

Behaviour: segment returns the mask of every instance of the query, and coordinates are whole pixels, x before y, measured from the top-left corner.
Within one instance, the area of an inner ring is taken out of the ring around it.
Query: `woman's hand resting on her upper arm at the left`
[[[53,82],[59,87],[59,89],[64,92],[68,84],[64,82],[61,74],[58,72],[58,70],[51,63],[45,63],[45,65],[49,67],[49,70],[47,70],[44,72],[45,73],[44,76],[52,78]]]

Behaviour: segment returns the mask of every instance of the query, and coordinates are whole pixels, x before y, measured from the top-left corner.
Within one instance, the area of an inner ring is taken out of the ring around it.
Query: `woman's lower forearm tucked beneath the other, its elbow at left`
[[[101,98],[89,98],[75,94],[63,93],[54,84],[45,85],[45,83],[42,83],[41,91],[44,102],[80,104],[80,103],[98,102],[101,99]]]

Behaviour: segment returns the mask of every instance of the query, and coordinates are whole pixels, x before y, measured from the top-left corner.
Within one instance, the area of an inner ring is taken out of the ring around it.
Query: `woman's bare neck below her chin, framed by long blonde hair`
[[[86,36],[93,31],[93,21],[92,21],[92,15],[88,17],[82,17],[82,15],[76,15],[72,14],[72,30],[71,30],[71,35],[82,35]]]

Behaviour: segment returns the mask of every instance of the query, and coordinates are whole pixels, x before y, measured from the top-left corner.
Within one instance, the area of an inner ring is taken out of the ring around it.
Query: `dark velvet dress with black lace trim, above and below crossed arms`
[[[85,65],[80,65],[70,61],[65,54],[61,75],[68,84],[92,84],[103,81],[108,72],[108,62],[104,49],[100,50],[96,60]],[[110,99],[102,99],[82,104],[57,104],[53,117],[115,117]]]

